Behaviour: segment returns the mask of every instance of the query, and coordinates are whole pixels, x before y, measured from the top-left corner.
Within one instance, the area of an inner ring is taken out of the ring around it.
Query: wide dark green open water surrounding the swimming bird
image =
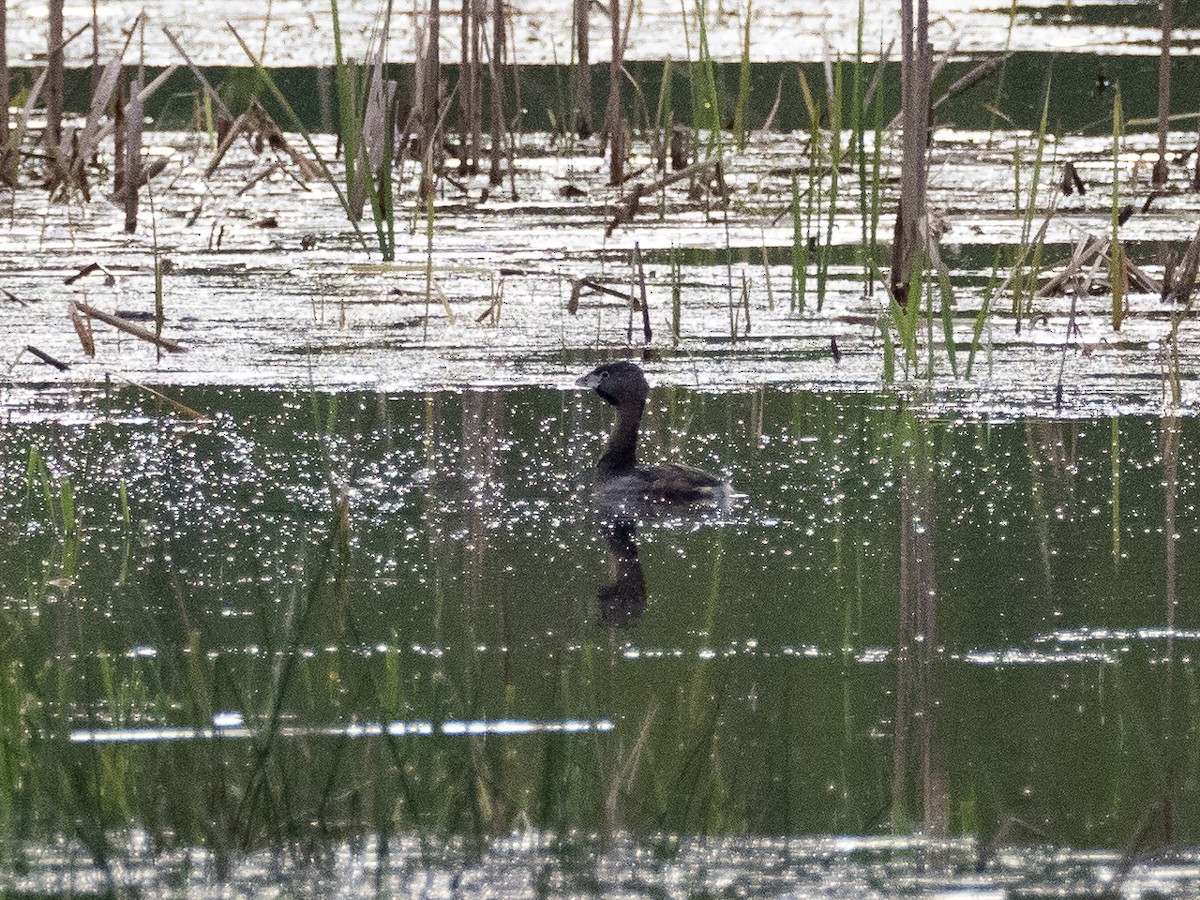
[[[180,398],[206,421],[97,391],[0,432],[10,859],[130,827],[1200,835],[1194,420],[661,389],[644,456],[746,497],[610,542],[594,397]],[[190,737],[217,714],[248,734]]]

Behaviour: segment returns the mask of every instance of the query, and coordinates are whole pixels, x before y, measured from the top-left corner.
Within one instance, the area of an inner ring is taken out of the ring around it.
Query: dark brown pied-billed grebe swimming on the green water
[[[601,500],[725,503],[730,499],[728,482],[701,469],[679,463],[649,468],[637,464],[637,427],[650,392],[641,368],[632,362],[610,362],[576,384],[594,389],[601,400],[617,407],[617,424],[596,463],[596,496]]]

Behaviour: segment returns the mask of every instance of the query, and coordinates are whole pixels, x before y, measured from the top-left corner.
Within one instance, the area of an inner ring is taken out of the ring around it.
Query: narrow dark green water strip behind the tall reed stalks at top
[[[1092,16],[1108,7],[1081,7],[1080,14]],[[1122,11],[1134,8],[1122,5]],[[1157,17],[1157,13],[1153,13]],[[1180,23],[1182,25],[1182,23]],[[878,48],[865,48],[866,53]],[[949,86],[973,70],[980,60],[952,61],[938,73],[934,84],[935,100]],[[850,108],[852,60],[844,59],[844,109]],[[1178,115],[1195,114],[1195,98],[1187,85],[1196,83],[1200,60],[1196,56],[1178,55],[1171,60],[1171,78],[1181,85],[1171,96],[1171,112]],[[127,67],[132,76],[133,67]],[[882,80],[884,91],[884,116],[890,119],[900,108],[900,66],[893,60],[886,66]],[[635,90],[623,88],[623,108],[630,126],[641,130],[653,122],[659,107],[659,94],[664,84],[664,64],[629,61],[630,78],[638,85]],[[876,78],[877,66],[868,64],[864,76],[868,82]],[[146,79],[161,70],[148,68]],[[1157,56],[1104,56],[1088,53],[1014,53],[1002,67],[1003,77],[992,74],[974,88],[958,92],[934,113],[936,126],[962,130],[1026,128],[1037,131],[1042,121],[1043,103],[1046,102],[1046,124],[1051,133],[1084,132],[1111,134],[1112,97],[1115,88],[1121,89],[1124,115],[1129,119],[1153,119],[1158,114],[1158,59]],[[458,79],[458,67],[443,66],[444,77],[452,88]],[[676,61],[671,67],[672,120],[692,124],[691,79],[688,64]],[[226,103],[235,113],[246,108],[251,97],[257,97],[271,112],[282,127],[293,131],[294,125],[275,103],[265,82],[251,67],[210,66],[205,77],[214,84]],[[702,70],[696,68],[697,78]],[[746,122],[760,128],[775,110],[773,128],[780,132],[808,131],[810,126],[808,107],[803,98],[799,78],[803,74],[810,92],[828,110],[824,66],[821,62],[755,62],[750,71]],[[412,96],[413,66],[394,64],[389,76],[400,84],[400,96]],[[29,68],[12,71],[13,92],[19,95],[32,84],[36,72]],[[714,65],[718,102],[726,127],[733,121],[733,109],[738,94],[738,64]],[[337,97],[335,73],[329,66],[277,68],[271,78],[288,97],[300,122],[310,131],[336,131]],[[571,72],[568,66],[528,65],[506,70],[506,97],[515,104],[520,97],[520,112],[512,114],[518,131],[558,132],[570,121],[570,98],[574,96]],[[1049,100],[1046,92],[1049,89]],[[595,66],[593,72],[594,109],[593,120],[600,121],[608,90],[608,67]],[[702,88],[701,90],[707,90]],[[66,103],[68,109],[85,113],[91,96],[91,72],[70,70],[66,79]],[[187,68],[176,71],[149,100],[146,115],[160,130],[186,130],[202,121],[198,112],[200,88]],[[776,97],[779,104],[776,108]],[[485,96],[486,108],[486,96]],[[994,114],[998,109],[1007,119]],[[842,114],[844,127],[850,127],[848,112]],[[450,131],[457,124],[449,120]],[[875,122],[868,121],[866,128]],[[1154,122],[1133,126],[1129,131],[1152,131]]]

